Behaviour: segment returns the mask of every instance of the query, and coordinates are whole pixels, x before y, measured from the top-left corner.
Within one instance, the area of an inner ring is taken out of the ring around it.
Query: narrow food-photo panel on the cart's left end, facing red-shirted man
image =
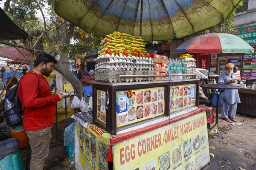
[[[97,90],[97,119],[106,124],[106,92]]]

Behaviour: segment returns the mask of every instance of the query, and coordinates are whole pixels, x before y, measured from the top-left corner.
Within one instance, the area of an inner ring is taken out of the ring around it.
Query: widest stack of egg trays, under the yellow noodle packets
[[[99,82],[152,81],[154,77],[119,77],[119,75],[152,75],[154,61],[145,57],[102,55],[95,60],[95,80]]]

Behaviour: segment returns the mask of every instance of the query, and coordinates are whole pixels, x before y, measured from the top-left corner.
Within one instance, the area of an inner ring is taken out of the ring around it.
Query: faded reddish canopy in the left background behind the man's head
[[[25,58],[26,55],[29,55],[26,58],[26,62],[30,63],[31,54],[29,51],[24,50],[23,48],[17,47],[2,47],[0,48],[0,57],[14,59],[15,62],[21,62]]]

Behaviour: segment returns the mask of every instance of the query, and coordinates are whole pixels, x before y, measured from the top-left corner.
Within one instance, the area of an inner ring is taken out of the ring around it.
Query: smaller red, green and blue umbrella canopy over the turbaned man
[[[233,34],[204,34],[183,42],[175,49],[177,53],[253,53],[247,42]]]

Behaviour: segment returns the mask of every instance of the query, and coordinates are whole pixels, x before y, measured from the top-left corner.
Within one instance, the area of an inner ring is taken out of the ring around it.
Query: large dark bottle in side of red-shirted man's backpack
[[[18,113],[15,105],[9,100],[9,98],[4,99],[5,105],[3,114],[6,119],[6,123],[8,126],[13,126],[16,124],[20,124],[22,122],[22,117]]]

